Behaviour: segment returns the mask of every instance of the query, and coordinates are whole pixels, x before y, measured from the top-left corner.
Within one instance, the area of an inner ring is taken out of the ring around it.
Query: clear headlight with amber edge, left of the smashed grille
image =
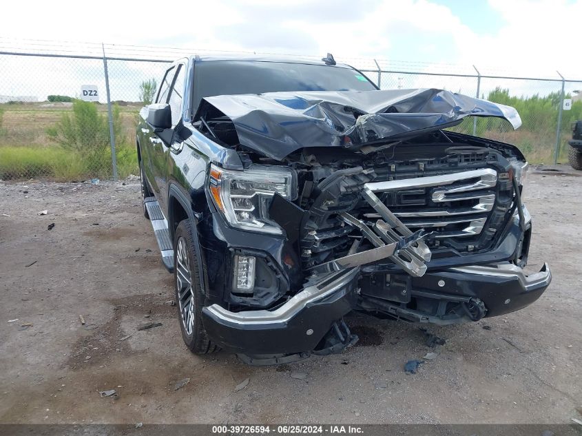
[[[275,193],[293,199],[293,172],[272,165],[251,165],[244,171],[211,165],[209,191],[232,227],[281,234],[281,228],[269,219],[269,206]]]

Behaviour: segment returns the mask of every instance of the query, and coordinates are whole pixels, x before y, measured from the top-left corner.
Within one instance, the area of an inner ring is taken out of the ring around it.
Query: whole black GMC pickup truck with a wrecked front
[[[453,132],[521,120],[445,90],[379,90],[322,61],[191,56],[140,112],[145,216],[194,353],[250,364],[339,353],[350,311],[453,324],[516,311],[529,276],[528,164]]]

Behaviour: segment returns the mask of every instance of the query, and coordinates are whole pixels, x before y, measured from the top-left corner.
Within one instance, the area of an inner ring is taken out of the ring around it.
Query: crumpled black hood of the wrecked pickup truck
[[[303,147],[396,140],[466,116],[521,125],[513,107],[435,89],[212,96],[203,99],[196,118],[208,103],[231,119],[242,145],[278,160]]]

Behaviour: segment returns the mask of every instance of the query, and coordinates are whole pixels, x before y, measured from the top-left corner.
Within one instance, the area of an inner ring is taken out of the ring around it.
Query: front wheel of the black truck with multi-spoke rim
[[[174,236],[174,287],[182,338],[195,354],[213,353],[218,346],[211,342],[202,325],[204,294],[200,289],[200,272],[194,249],[194,229],[189,220],[178,224]]]

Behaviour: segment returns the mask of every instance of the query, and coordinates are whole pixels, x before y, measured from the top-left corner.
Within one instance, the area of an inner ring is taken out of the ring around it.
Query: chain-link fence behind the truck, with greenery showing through
[[[103,55],[0,52],[0,179],[138,174],[138,112],[152,98],[169,59],[185,52],[142,59],[110,51],[114,54],[106,57],[107,50]],[[453,129],[515,144],[532,163],[565,161],[570,124],[582,117],[582,101],[575,98],[582,81],[482,75],[477,69],[430,72],[430,64],[375,59],[338,61],[360,69],[383,90],[435,87],[516,107],[523,121],[516,131],[494,118],[468,118]],[[84,85],[97,90],[97,101],[81,99]],[[564,98],[571,96],[571,110],[562,111]]]

